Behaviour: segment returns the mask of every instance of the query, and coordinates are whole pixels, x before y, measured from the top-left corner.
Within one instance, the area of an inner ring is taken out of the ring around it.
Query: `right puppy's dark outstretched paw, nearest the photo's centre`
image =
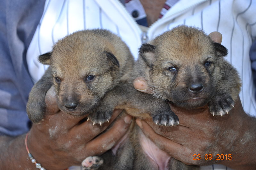
[[[153,121],[157,125],[163,126],[176,126],[180,124],[178,116],[174,113],[156,114],[153,116]]]

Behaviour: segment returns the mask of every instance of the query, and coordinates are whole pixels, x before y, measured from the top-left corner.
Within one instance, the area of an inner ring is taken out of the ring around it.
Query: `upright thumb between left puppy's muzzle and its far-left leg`
[[[59,107],[57,104],[57,95],[54,90],[54,86],[52,86],[46,93],[45,95],[45,110],[46,110],[46,115],[54,115],[57,112],[59,112]]]

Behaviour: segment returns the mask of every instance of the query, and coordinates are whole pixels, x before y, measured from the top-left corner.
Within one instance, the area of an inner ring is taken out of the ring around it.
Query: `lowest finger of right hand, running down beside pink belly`
[[[143,131],[144,135],[154,142],[159,149],[172,156],[172,153],[182,152],[183,146],[181,144],[173,142],[172,140],[155,133],[155,131],[145,121],[136,119],[136,123]]]

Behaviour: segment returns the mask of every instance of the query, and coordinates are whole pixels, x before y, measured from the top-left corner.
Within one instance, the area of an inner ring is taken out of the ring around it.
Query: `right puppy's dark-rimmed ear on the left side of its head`
[[[142,44],[139,49],[140,57],[150,68],[152,68],[154,62],[154,50],[155,46],[151,44]]]

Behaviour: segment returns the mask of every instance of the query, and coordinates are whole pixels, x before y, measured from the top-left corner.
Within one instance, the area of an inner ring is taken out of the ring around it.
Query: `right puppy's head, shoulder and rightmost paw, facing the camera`
[[[240,92],[237,71],[223,57],[228,50],[202,30],[178,26],[140,47],[139,67],[153,95],[186,109],[208,103],[212,115],[234,107]]]

